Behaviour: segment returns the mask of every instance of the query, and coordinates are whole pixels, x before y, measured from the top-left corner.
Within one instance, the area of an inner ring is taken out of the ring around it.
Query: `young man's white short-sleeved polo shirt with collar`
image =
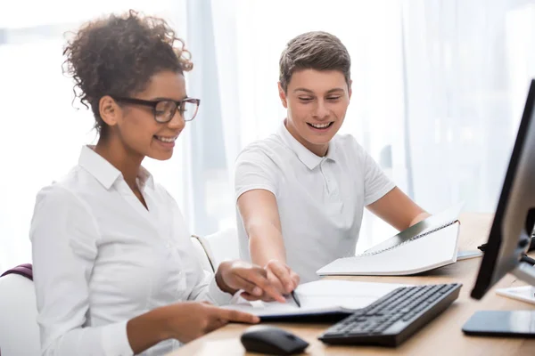
[[[351,135],[335,135],[326,157],[293,138],[285,125],[253,142],[235,165],[235,197],[249,190],[276,196],[286,262],[301,282],[333,260],[355,255],[364,207],[395,184]],[[239,213],[241,258],[251,261],[249,239]]]

